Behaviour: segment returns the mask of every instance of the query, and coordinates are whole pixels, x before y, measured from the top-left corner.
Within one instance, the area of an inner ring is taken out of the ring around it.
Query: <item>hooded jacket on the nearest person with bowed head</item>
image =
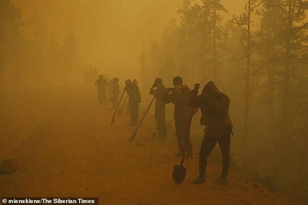
[[[205,136],[219,138],[232,132],[229,116],[229,97],[222,93],[213,81],[209,81],[196,99],[195,106],[201,109],[201,125],[205,125]]]

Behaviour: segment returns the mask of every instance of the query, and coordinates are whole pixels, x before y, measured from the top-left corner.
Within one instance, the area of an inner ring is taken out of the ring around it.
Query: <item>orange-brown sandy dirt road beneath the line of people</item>
[[[128,116],[98,105],[91,89],[51,89],[0,103],[0,196],[99,197],[100,204],[300,204],[259,185],[248,173],[210,159],[207,181],[194,185],[200,144],[186,160],[185,181],[171,179],[176,158],[173,132],[152,141],[146,123],[134,141]],[[151,116],[148,121],[153,122]]]

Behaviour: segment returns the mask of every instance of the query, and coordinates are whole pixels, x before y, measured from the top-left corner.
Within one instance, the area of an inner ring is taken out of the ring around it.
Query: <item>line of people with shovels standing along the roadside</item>
[[[155,113],[156,131],[159,133],[161,139],[167,137],[166,124],[166,104],[174,104],[173,118],[175,122],[175,134],[177,138],[177,146],[179,152],[176,156],[185,154],[185,158],[193,158],[193,146],[190,140],[187,140],[189,116],[191,110],[193,114],[201,110],[202,117],[200,119],[201,125],[205,125],[204,138],[199,153],[199,176],[193,180],[194,184],[201,184],[205,182],[205,170],[207,165],[207,157],[210,155],[215,145],[219,144],[222,152],[222,174],[221,184],[227,183],[227,173],[230,166],[230,138],[232,132],[232,122],[229,116],[230,99],[222,93],[213,81],[205,84],[202,92],[195,99],[195,89],[190,90],[187,85],[183,84],[180,76],[176,76],[172,80],[173,87],[167,88],[163,85],[161,78],[156,78],[154,84],[150,88],[150,95],[155,97]],[[100,75],[100,78],[95,82],[98,85],[98,99],[99,103],[106,103],[105,86],[109,85],[109,97],[113,103],[113,109],[118,104],[118,97],[120,94],[119,79],[114,78],[109,84]],[[112,86],[112,88],[110,87]],[[112,90],[112,96],[110,96]],[[123,92],[126,92],[129,97],[130,126],[137,126],[139,103],[141,96],[137,80],[126,80]],[[124,93],[123,93],[124,94]],[[193,106],[193,109],[191,107]],[[186,153],[183,153],[183,146],[186,145]]]

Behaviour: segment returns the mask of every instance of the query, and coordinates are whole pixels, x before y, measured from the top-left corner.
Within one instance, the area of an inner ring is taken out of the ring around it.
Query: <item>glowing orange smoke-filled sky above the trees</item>
[[[242,12],[245,0],[222,0],[229,13]],[[20,8],[24,28],[36,14],[44,25],[45,40],[62,44],[72,32],[78,41],[78,54],[87,64],[102,67],[113,75],[111,65],[139,70],[138,57],[161,34],[183,0],[13,0]],[[137,67],[137,68],[133,68]],[[114,73],[116,74],[116,73]]]

